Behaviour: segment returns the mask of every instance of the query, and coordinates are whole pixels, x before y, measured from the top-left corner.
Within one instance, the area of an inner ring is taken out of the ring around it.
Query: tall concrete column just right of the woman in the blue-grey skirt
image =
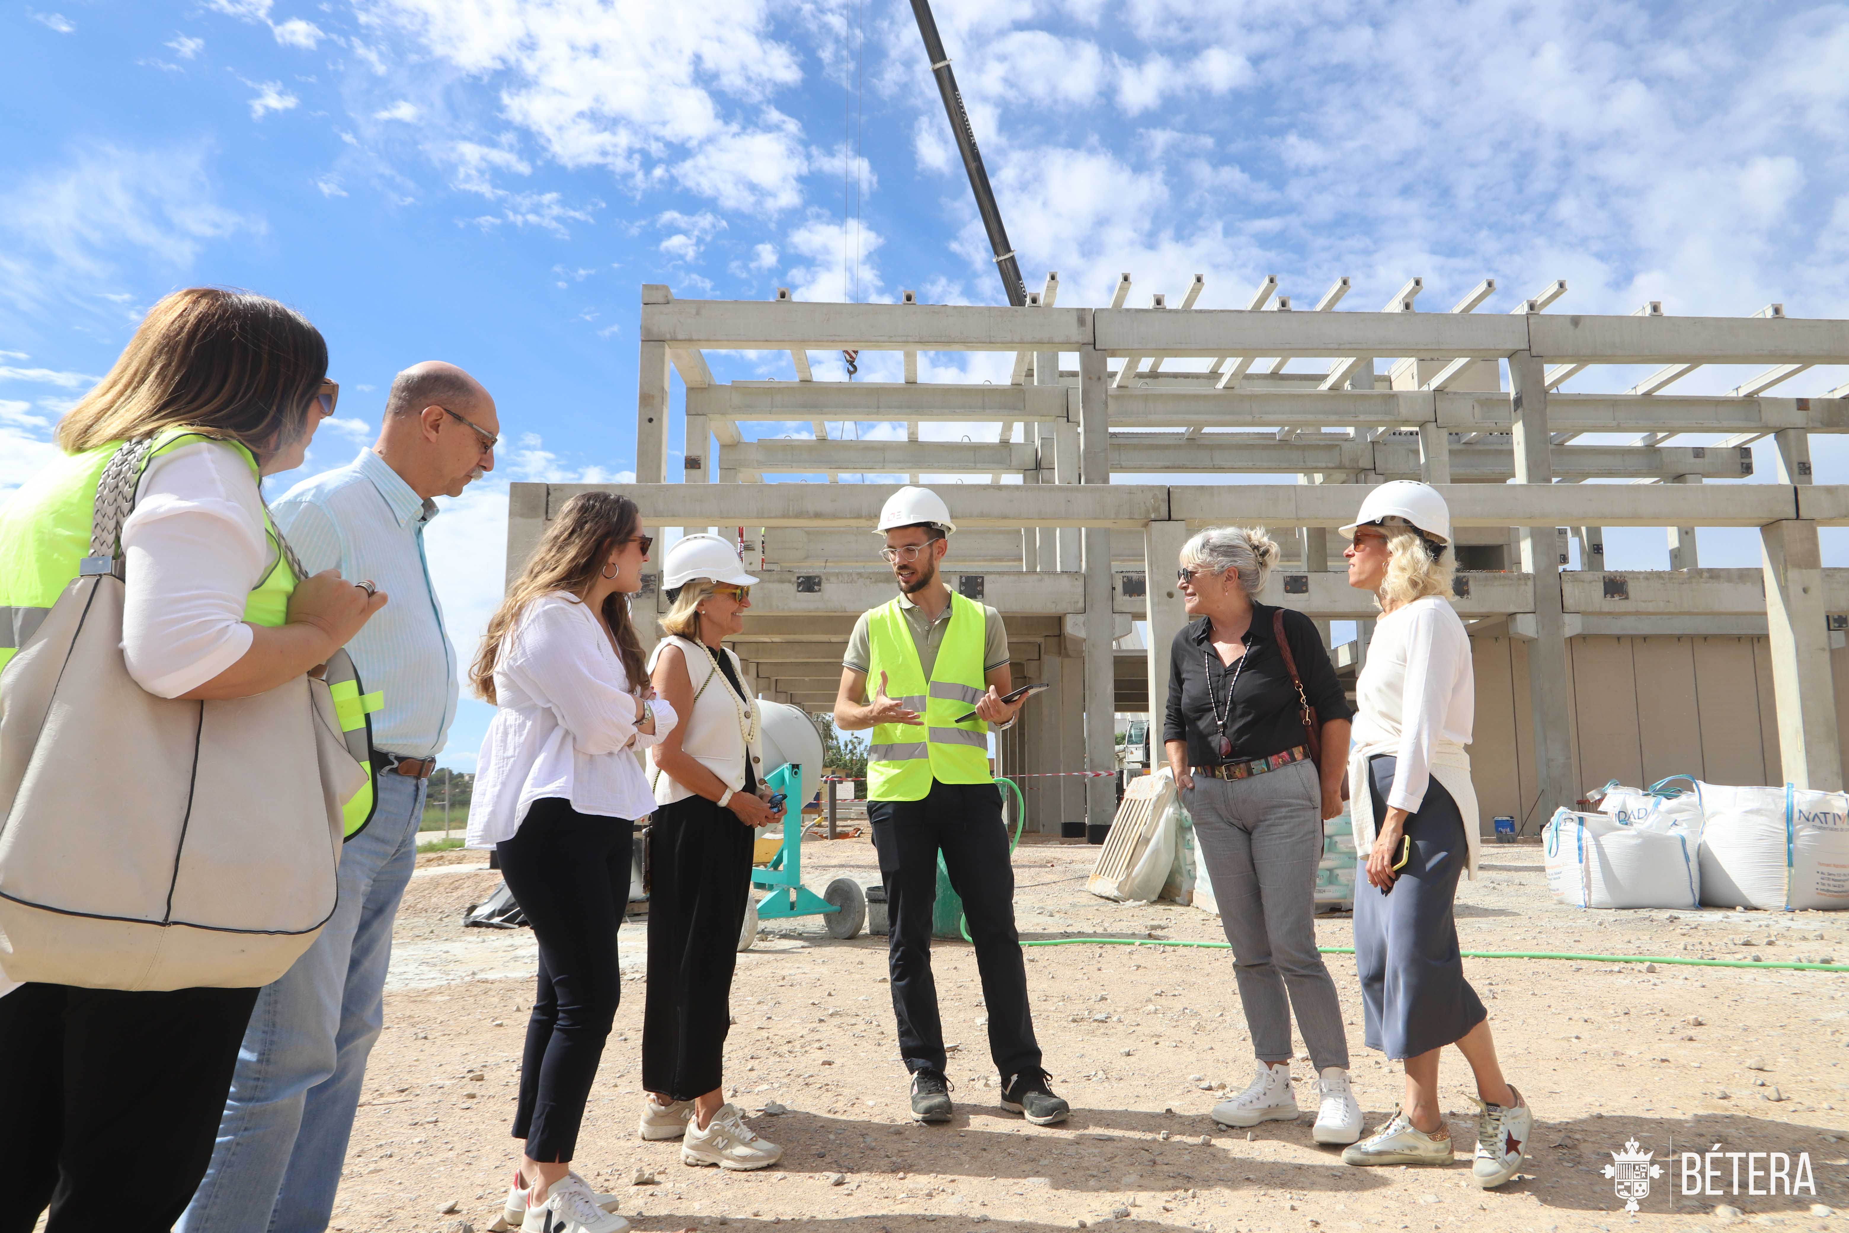
[[[1514,479],[1518,484],[1553,482],[1553,438],[1548,433],[1546,364],[1527,351],[1509,357],[1509,403],[1514,412]],[[1553,527],[1522,527],[1522,569],[1535,579],[1535,643],[1527,653],[1527,695],[1535,728],[1535,769],[1540,799],[1527,817],[1546,823],[1561,806],[1572,808],[1572,712],[1566,697],[1566,617],[1561,612],[1559,542]]]

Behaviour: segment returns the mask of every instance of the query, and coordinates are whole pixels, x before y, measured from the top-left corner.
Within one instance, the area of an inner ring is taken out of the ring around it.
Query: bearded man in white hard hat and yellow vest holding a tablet
[[[1002,793],[989,771],[989,728],[1013,725],[1021,702],[1002,701],[1010,690],[1002,617],[937,577],[954,531],[950,510],[928,488],[900,488],[886,503],[878,532],[899,595],[854,623],[834,723],[849,732],[873,728],[867,817],[886,882],[893,1013],[899,1054],[912,1072],[912,1117],[950,1120],[930,971],[941,854],[976,948],[1002,1107],[1047,1126],[1063,1122],[1069,1107],[1047,1085],[1034,1039],[1015,932],[1015,871]]]

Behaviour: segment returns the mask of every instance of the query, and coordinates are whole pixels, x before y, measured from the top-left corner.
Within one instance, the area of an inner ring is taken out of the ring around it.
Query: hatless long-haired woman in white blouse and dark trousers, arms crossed
[[[634,749],[675,726],[653,701],[629,597],[651,536],[636,503],[566,501],[488,621],[471,678],[497,706],[477,762],[468,847],[496,848],[540,943],[514,1137],[525,1155],[508,1209],[544,1233],[621,1233],[571,1172],[579,1126],[616,1019],[616,930],[629,904],[631,823],[655,808]]]

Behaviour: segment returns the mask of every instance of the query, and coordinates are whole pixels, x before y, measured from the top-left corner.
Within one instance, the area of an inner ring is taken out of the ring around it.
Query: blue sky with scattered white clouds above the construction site
[[[936,9],[1022,272],[1059,270],[1061,303],[1130,270],[1132,303],[1202,272],[1202,307],[1278,274],[1300,301],[1350,275],[1346,307],[1374,309],[1418,274],[1439,311],[1490,275],[1479,311],[1564,277],[1557,311],[1849,316],[1849,7]],[[0,494],[153,299],[263,290],[320,325],[342,381],[311,471],[370,440],[405,364],[455,360],[497,396],[514,446],[431,531],[464,653],[501,586],[505,481],[634,464],[642,283],[1000,296],[900,0],[4,0],[0,68]],[[714,368],[790,375],[777,355]],[[1819,442],[1819,479],[1842,464]],[[1751,532],[1701,547],[1757,564]],[[1827,551],[1849,564],[1840,536]],[[1612,532],[1610,558],[1660,568],[1662,536]],[[464,710],[459,763],[483,723]]]

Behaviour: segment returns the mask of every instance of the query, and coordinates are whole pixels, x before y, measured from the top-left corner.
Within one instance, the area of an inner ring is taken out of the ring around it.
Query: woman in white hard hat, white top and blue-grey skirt
[[[1439,1054],[1457,1044],[1477,1081],[1472,1179],[1490,1189],[1522,1168],[1535,1128],[1496,1061],[1488,1013],[1464,980],[1451,904],[1477,869],[1470,786],[1476,678],[1470,636],[1451,608],[1451,512],[1429,484],[1392,481],[1342,527],[1348,584],[1374,592],[1381,617],[1357,680],[1353,752],[1355,969],[1365,1039],[1405,1065],[1405,1100],[1350,1165],[1450,1165],[1439,1109]]]

